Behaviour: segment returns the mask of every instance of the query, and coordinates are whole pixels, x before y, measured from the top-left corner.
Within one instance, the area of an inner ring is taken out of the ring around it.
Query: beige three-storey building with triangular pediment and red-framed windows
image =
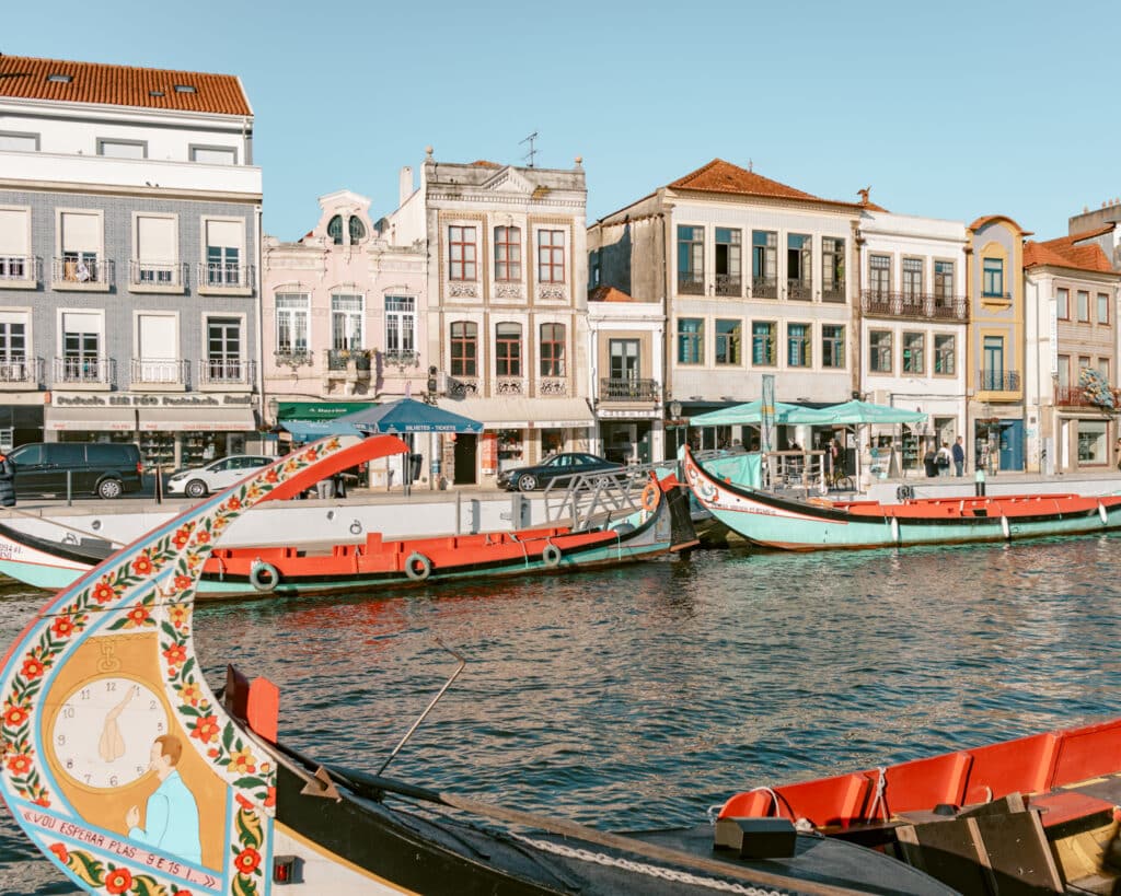
[[[438,161],[387,217],[391,245],[428,250],[425,358],[434,400],[483,423],[432,445],[454,484],[594,438],[587,402],[587,190],[572,169]]]

